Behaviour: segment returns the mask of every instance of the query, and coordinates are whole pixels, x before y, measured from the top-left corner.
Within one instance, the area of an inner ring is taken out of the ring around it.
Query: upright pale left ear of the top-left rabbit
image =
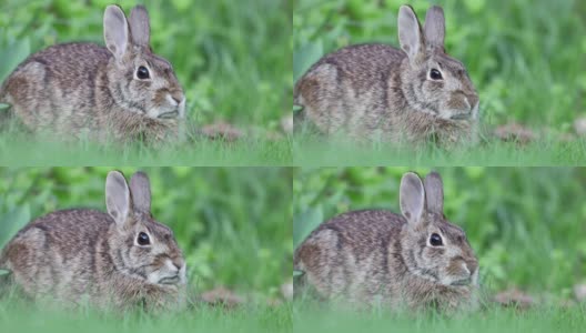
[[[103,24],[105,47],[115,59],[121,59],[129,44],[129,27],[122,9],[115,4],[108,6]]]

